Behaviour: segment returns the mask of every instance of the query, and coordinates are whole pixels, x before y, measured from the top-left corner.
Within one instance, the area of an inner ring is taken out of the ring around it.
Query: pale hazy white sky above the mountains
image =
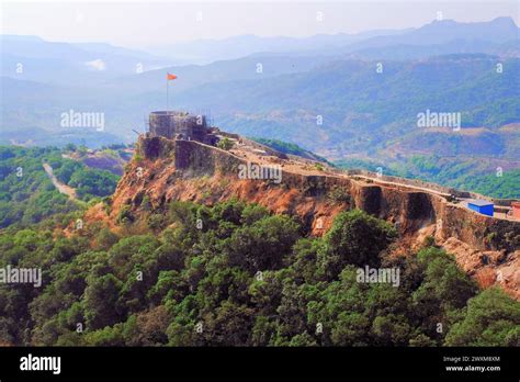
[[[21,1],[1,0],[2,33],[49,41],[147,46],[240,34],[307,36],[511,16],[512,1]],[[318,13],[321,12],[321,13]],[[321,20],[319,20],[321,18]]]

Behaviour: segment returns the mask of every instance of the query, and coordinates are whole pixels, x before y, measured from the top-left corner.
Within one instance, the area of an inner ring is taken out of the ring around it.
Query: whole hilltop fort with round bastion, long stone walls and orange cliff
[[[215,138],[228,138],[233,146],[206,144]],[[145,198],[159,212],[171,201],[215,205],[237,199],[294,216],[305,233],[323,236],[339,213],[359,209],[395,226],[402,237],[395,254],[434,243],[477,280],[499,284],[520,301],[520,221],[518,210],[509,207],[518,209],[518,200],[365,170],[341,171],[317,159],[282,155],[210,127],[203,115],[181,112],[151,113],[135,155],[140,159],[129,161],[111,199],[114,222],[122,211],[146,216]],[[252,165],[280,172],[240,175]],[[136,177],[137,171],[143,177]]]

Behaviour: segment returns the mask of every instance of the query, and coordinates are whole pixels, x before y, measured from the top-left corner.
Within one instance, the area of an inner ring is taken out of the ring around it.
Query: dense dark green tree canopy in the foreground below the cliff
[[[323,238],[238,201],[124,215],[117,233],[65,235],[56,221],[2,232],[0,267],[43,270],[41,288],[0,285],[2,344],[520,345],[520,303],[481,291],[429,240],[389,256],[395,228],[358,210]],[[364,267],[399,269],[399,285],[360,282]]]

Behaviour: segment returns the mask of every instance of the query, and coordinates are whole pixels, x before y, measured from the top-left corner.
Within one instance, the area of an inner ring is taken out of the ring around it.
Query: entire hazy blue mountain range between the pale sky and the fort
[[[520,119],[518,32],[511,19],[499,18],[358,35],[238,36],[173,50],[199,49],[207,60],[224,53],[245,57],[142,74],[137,61],[146,69],[161,58],[109,44],[2,36],[0,137],[23,141],[27,130],[43,128],[60,143],[76,134],[93,144],[133,141],[132,130],[143,131],[143,119],[166,108],[170,71],[179,76],[170,86],[171,108],[204,112],[224,130],[293,142],[328,158],[406,155],[425,136],[433,138],[422,141],[423,151],[451,147],[440,142],[456,135],[417,128],[417,114],[426,110],[461,113],[462,127],[490,132],[472,137],[494,139],[476,155],[510,156],[511,141],[498,127]],[[21,74],[13,72],[19,60],[25,63]],[[102,112],[106,128],[64,131],[59,117],[69,110]]]

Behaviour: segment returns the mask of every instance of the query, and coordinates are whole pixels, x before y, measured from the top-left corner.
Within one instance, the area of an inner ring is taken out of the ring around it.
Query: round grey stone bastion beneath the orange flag
[[[155,111],[149,115],[149,136],[169,139],[197,141],[214,146],[218,142],[216,127],[207,125],[202,114],[183,111]]]

